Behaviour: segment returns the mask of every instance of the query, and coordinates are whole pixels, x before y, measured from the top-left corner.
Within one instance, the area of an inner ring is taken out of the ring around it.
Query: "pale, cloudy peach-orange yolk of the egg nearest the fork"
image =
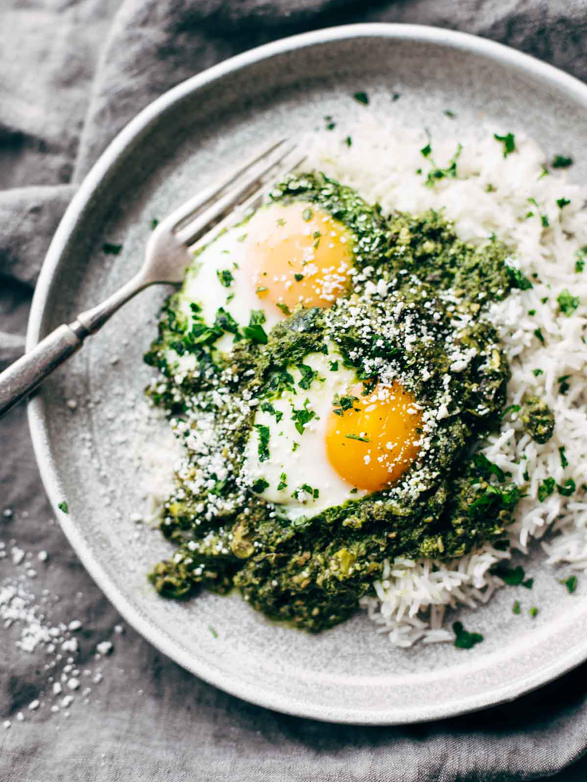
[[[331,307],[347,289],[352,235],[332,215],[310,203],[275,203],[255,215],[247,267],[257,296],[284,314]]]

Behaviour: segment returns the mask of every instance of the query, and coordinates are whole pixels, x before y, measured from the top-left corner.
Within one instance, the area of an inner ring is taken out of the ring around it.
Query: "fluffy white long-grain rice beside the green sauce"
[[[483,127],[475,136],[429,139],[424,131],[377,124],[365,113],[365,121],[351,131],[315,135],[308,142],[304,167],[314,167],[351,185],[369,202],[378,201],[384,212],[405,210],[419,214],[427,209],[444,210],[455,222],[461,239],[479,242],[495,233],[512,251],[513,264],[540,282],[526,291],[515,291],[492,306],[490,317],[499,331],[510,361],[512,379],[508,405],[520,404],[525,393],[537,393],[556,416],[554,435],[547,443],[535,443],[524,434],[516,414],[504,419],[502,431],[488,438],[484,454],[512,479],[524,484],[530,475],[528,494],[520,501],[515,522],[509,529],[510,545],[527,550],[531,537],[541,538],[546,562],[570,563],[587,568],[587,346],[583,342],[587,324],[587,266],[574,271],[575,253],[587,245],[587,213],[583,209],[587,188],[571,185],[565,170],[542,175],[546,156],[536,142],[517,128]],[[456,126],[457,127],[457,126]],[[515,132],[516,151],[503,156],[503,145],[494,133]],[[438,180],[427,187],[430,158],[420,149],[430,141],[432,157],[445,167],[463,145],[457,163],[457,177]],[[416,170],[422,169],[422,174]],[[492,185],[494,189],[489,188]],[[557,199],[571,203],[561,209]],[[535,199],[538,208],[528,199]],[[533,217],[527,217],[533,211]],[[539,213],[548,217],[542,227]],[[564,289],[578,296],[580,304],[570,317],[559,311],[556,297]],[[547,298],[546,302],[542,299]],[[528,314],[535,310],[535,315]],[[542,345],[535,336],[539,328]],[[540,368],[542,375],[533,370]],[[570,389],[563,395],[557,378],[570,375]],[[568,461],[561,465],[559,448],[565,447]],[[574,479],[577,490],[571,497],[554,491],[540,502],[538,486],[546,478],[563,484]],[[486,543],[479,551],[450,564],[396,558],[387,563],[384,578],[375,584],[376,597],[362,604],[393,644],[409,647],[448,641],[453,634],[442,627],[447,606],[466,604],[472,608],[487,602],[502,580],[489,569],[510,553],[496,551]]]

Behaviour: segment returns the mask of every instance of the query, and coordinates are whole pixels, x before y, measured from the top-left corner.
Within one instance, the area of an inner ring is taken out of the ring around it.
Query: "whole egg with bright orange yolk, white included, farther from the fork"
[[[253,490],[296,518],[397,481],[420,450],[422,411],[400,382],[366,389],[333,343],[290,366],[290,390],[261,400],[244,454]]]

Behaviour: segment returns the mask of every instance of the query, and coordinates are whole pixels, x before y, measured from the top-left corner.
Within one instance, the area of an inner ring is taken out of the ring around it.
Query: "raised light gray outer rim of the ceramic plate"
[[[474,35],[443,30],[437,27],[384,23],[332,27],[290,38],[283,38],[274,43],[254,48],[249,52],[232,57],[201,74],[189,78],[182,84],[178,84],[178,86],[150,103],[149,106],[146,106],[114,138],[113,142],[110,143],[106,151],[103,152],[103,155],[100,156],[94,167],[92,167],[92,170],[89,171],[59,224],[41,268],[41,274],[34,290],[31,316],[28,323],[27,350],[31,350],[45,336],[44,333],[41,333],[41,324],[52,278],[59,267],[60,258],[67,246],[67,241],[74,231],[77,221],[84,213],[85,206],[92,199],[92,194],[99,187],[103,178],[106,177],[110,167],[116,165],[117,161],[124,155],[128,145],[131,145],[145,131],[146,127],[149,127],[149,124],[159,117],[160,113],[163,113],[175,102],[184,99],[185,96],[190,95],[193,91],[197,91],[203,85],[210,84],[226,74],[237,72],[251,63],[269,59],[283,52],[294,52],[326,42],[369,37],[388,38],[398,41],[428,42],[434,45],[444,45],[447,48],[471,52],[489,61],[494,61],[496,64],[512,67],[521,73],[532,74],[534,77],[538,77],[546,84],[549,84],[554,90],[560,91],[574,101],[584,105],[585,109],[587,109],[587,85],[582,84],[578,79],[504,45],[477,38]],[[542,658],[550,658],[548,664],[529,669],[525,676],[517,676],[517,678],[506,681],[502,685],[493,687],[491,690],[463,697],[458,703],[456,701],[450,703],[439,702],[433,707],[427,706],[424,708],[419,708],[416,705],[415,708],[406,709],[402,713],[392,710],[372,712],[366,715],[365,712],[358,712],[353,708],[339,708],[336,713],[333,713],[330,709],[327,711],[326,708],[313,706],[306,701],[292,701],[290,697],[285,697],[279,692],[264,691],[261,686],[251,687],[249,684],[238,680],[238,678],[234,680],[226,680],[225,677],[221,678],[218,676],[218,670],[211,669],[206,662],[189,655],[182,648],[175,647],[173,643],[158,636],[157,630],[149,622],[146,622],[145,619],[142,619],[142,616],[128,601],[128,598],[110,582],[99,558],[92,551],[92,547],[82,539],[73,518],[63,513],[57,513],[57,506],[64,495],[59,479],[59,469],[51,456],[42,396],[36,396],[30,401],[28,405],[28,419],[41,479],[49,495],[49,500],[59,518],[63,532],[66,534],[72,547],[74,547],[85,568],[92,578],[95,579],[95,582],[103,590],[104,594],[106,594],[106,597],[110,599],[131,626],[135,627],[135,630],[141,633],[143,637],[165,655],[174,659],[175,662],[178,662],[185,669],[196,674],[196,676],[200,676],[203,680],[246,701],[267,708],[274,708],[279,712],[287,714],[337,723],[364,725],[416,723],[456,716],[479,708],[497,705],[504,701],[511,701],[556,679],[557,676],[567,673],[587,658],[587,608],[582,608],[574,612],[574,619],[577,622],[577,635],[583,639],[582,641],[574,643],[563,654],[553,655],[552,647],[549,643],[549,634],[541,633],[541,637],[537,639],[538,645],[535,647],[535,655],[542,655]],[[492,656],[484,658],[481,667],[492,665]],[[537,656],[537,658],[540,657]]]

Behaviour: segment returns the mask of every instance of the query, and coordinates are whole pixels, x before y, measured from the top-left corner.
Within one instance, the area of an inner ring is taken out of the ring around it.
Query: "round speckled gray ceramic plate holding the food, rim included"
[[[34,294],[28,346],[127,280],[161,217],[219,167],[269,135],[295,136],[354,119],[355,91],[369,110],[406,126],[454,132],[481,113],[524,127],[549,156],[572,150],[587,178],[587,87],[501,45],[430,27],[358,25],[287,38],[221,63],[148,106],[92,169],[52,242]],[[394,92],[402,97],[393,102]],[[449,120],[451,109],[458,120]],[[365,110],[362,109],[361,110]],[[452,123],[452,124],[451,124]],[[448,125],[450,124],[450,126]],[[103,242],[123,245],[118,256]],[[400,650],[364,615],[317,637],[267,622],[238,597],[164,601],[146,580],[171,551],[131,520],[144,508],[165,432],[142,414],[153,338],[166,291],[129,303],[85,349],[45,382],[30,405],[41,474],[88,571],[125,619],[197,676],[257,704],[345,723],[411,723],[516,698],[587,658],[587,601],[553,590],[538,551],[534,621],[511,612],[511,590],[463,621],[484,633],[474,651],[451,644]],[[77,400],[71,411],[66,400]],[[153,443],[157,447],[153,447]],[[565,599],[566,598],[566,599]],[[216,635],[209,629],[213,626]]]

